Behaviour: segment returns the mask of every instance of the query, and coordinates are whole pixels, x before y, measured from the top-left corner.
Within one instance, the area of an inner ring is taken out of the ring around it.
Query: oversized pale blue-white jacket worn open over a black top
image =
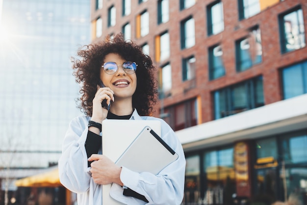
[[[180,205],[183,199],[185,156],[182,146],[172,128],[156,117],[139,116],[134,110],[130,120],[161,121],[161,138],[176,151],[178,159],[165,167],[156,176],[151,173],[136,173],[123,167],[120,175],[125,186],[144,195],[147,205]],[[78,205],[102,205],[102,185],[96,184],[87,166],[87,154],[84,147],[90,117],[74,118],[66,132],[62,155],[59,159],[61,183],[70,191],[77,193]],[[99,154],[102,150],[99,150]],[[112,193],[117,200],[126,205],[145,205],[142,200],[123,195],[123,189]]]

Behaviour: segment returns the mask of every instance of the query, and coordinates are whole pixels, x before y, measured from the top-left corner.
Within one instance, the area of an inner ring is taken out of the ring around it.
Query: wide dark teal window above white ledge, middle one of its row
[[[262,76],[213,92],[215,119],[264,105]]]

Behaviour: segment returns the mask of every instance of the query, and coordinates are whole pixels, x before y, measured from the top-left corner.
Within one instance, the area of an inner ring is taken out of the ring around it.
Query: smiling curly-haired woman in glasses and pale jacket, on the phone
[[[160,118],[148,116],[157,94],[150,57],[135,43],[126,42],[122,34],[87,46],[78,55],[81,60],[73,60],[73,68],[82,85],[80,108],[85,116],[71,121],[64,138],[58,165],[61,183],[77,193],[79,205],[101,205],[102,185],[109,183],[123,186],[112,195],[127,205],[179,205],[185,157],[171,127]],[[160,120],[161,138],[179,158],[156,176],[118,167],[101,154],[101,122],[105,118]],[[125,196],[127,187],[130,194]]]

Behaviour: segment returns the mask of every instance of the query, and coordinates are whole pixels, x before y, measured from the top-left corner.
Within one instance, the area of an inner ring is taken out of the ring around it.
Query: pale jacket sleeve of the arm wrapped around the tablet
[[[167,125],[168,126],[168,125]],[[131,190],[145,196],[147,205],[180,205],[183,199],[185,157],[182,146],[169,127],[162,131],[162,139],[179,155],[178,159],[165,167],[158,175],[148,172],[136,173],[125,167],[122,168],[121,180]],[[123,188],[112,185],[110,195],[127,205],[146,204],[133,197],[123,196]]]

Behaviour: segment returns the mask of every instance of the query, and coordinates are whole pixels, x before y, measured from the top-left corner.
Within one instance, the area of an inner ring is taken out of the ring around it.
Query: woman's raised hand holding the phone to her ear
[[[92,121],[102,123],[106,118],[108,110],[102,107],[102,100],[106,99],[106,104],[110,104],[111,100],[114,102],[114,92],[110,88],[97,88],[97,92],[93,99],[93,113]]]

